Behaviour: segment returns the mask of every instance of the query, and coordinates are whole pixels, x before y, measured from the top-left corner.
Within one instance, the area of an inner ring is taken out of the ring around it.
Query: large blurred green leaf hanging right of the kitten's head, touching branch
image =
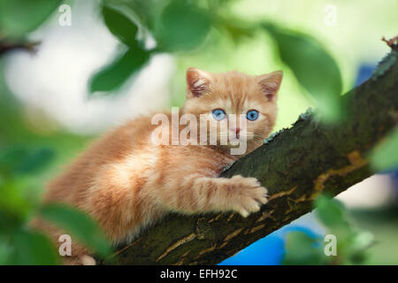
[[[264,23],[279,50],[282,62],[311,96],[325,122],[339,121],[343,115],[341,104],[341,72],[333,57],[308,34],[299,34]]]

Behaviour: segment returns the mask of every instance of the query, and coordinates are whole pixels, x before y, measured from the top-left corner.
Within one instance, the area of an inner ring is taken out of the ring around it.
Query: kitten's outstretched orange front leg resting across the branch
[[[247,217],[267,203],[267,190],[256,178],[241,175],[211,178],[188,175],[179,182],[177,194],[165,198],[172,210],[188,213],[234,210]]]

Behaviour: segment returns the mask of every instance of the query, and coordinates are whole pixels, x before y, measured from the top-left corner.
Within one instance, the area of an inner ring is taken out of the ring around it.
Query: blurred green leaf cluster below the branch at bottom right
[[[325,235],[336,239],[336,255],[326,256],[325,245],[329,243],[320,236],[303,232],[287,233],[286,254],[283,264],[364,264],[374,237],[353,226],[348,221],[342,203],[320,195],[315,201],[315,213],[325,227]],[[332,243],[332,241],[330,241]]]

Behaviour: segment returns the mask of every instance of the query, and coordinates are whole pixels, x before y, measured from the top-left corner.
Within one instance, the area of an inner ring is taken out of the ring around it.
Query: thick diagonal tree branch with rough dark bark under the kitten
[[[370,80],[343,96],[344,123],[324,126],[307,111],[223,172],[256,177],[268,188],[261,211],[248,218],[171,214],[104,264],[218,264],[312,210],[318,194],[337,195],[371,176],[366,155],[398,119],[397,61],[393,50]]]

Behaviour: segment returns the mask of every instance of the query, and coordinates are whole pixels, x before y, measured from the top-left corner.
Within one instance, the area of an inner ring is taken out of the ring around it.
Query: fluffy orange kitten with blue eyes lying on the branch
[[[105,134],[50,182],[44,202],[67,203],[86,211],[113,243],[131,241],[142,227],[168,211],[234,210],[247,217],[266,203],[266,189],[255,178],[218,175],[227,164],[263,144],[271,133],[281,80],[282,72],[249,76],[189,68],[187,100],[180,115],[191,114],[199,120],[202,114],[216,120],[218,128],[207,131],[216,131],[217,145],[156,145],[151,140],[157,128],[151,123],[153,115],[134,119]],[[228,121],[230,114],[242,114],[246,123]],[[170,112],[165,115],[172,120]],[[224,131],[219,129],[223,123],[229,125]],[[207,129],[205,124],[199,124],[199,132],[203,126]],[[172,126],[167,126],[169,133]],[[226,135],[246,142],[247,150],[231,154],[230,142],[219,144]],[[171,141],[170,136],[167,140]],[[55,227],[41,220],[34,225],[57,242],[61,233]],[[73,243],[72,253],[65,256],[66,264],[95,263],[88,249],[79,244]]]

